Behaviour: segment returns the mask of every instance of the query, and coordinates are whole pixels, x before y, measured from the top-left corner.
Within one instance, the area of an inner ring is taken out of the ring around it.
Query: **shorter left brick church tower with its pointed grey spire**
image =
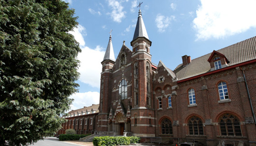
[[[112,31],[112,30],[111,30]],[[105,52],[102,64],[101,72],[101,93],[100,93],[100,106],[99,106],[99,115],[98,115],[98,130],[99,131],[108,131],[108,122],[105,120],[108,117],[111,105],[111,78],[112,78],[112,68],[115,64],[115,55],[112,45],[110,31],[110,40],[108,47]]]

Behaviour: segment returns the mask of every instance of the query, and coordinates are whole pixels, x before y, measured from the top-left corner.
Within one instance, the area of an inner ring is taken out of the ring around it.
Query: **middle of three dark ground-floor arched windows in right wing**
[[[203,135],[203,124],[199,117],[192,116],[188,121],[190,135]]]

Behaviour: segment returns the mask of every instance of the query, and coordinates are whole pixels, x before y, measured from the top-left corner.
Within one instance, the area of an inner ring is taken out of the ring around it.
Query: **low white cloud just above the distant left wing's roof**
[[[76,110],[83,108],[83,106],[91,106],[92,104],[99,104],[100,93],[99,92],[84,92],[84,93],[74,93],[69,98],[73,98],[74,101],[71,106],[71,110]]]

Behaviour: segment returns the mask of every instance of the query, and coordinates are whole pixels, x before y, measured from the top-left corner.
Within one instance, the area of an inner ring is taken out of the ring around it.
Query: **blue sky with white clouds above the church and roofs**
[[[108,45],[110,29],[115,57],[123,41],[131,49],[137,23],[138,0],[65,0],[75,9],[78,27],[73,32],[82,52],[79,93],[71,109],[98,104],[101,61]],[[152,62],[170,69],[256,35],[256,0],[144,0],[143,21]]]

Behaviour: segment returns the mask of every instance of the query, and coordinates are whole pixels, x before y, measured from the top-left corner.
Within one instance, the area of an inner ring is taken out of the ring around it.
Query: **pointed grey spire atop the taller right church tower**
[[[133,40],[135,40],[137,37],[145,37],[147,40],[149,40],[148,36],[147,36],[147,32],[146,32],[146,27],[145,27],[145,24],[144,24],[143,19],[142,19],[140,9],[139,9],[139,12],[138,12],[138,20],[137,20]]]

